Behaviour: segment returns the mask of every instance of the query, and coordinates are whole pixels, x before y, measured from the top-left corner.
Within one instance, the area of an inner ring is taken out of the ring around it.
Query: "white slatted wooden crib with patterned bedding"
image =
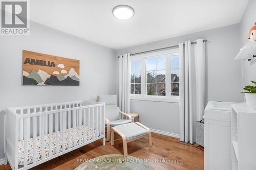
[[[28,169],[101,138],[104,145],[104,117],[105,104],[91,101],[7,108],[5,163]]]

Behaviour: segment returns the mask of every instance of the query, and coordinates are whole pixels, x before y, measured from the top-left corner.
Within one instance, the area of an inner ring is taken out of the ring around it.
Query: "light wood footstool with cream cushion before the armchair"
[[[128,123],[123,125],[118,125],[111,128],[111,145],[114,145],[114,132],[121,136],[123,140],[123,156],[127,156],[127,143],[140,139],[144,136],[148,136],[149,146],[152,146],[151,131],[150,128],[142,125],[139,122]]]

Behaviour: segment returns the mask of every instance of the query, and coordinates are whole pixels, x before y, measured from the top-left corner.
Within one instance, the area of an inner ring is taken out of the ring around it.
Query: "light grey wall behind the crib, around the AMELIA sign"
[[[0,37],[0,159],[6,107],[95,99],[115,94],[116,51],[31,22],[30,36]],[[22,86],[22,51],[80,60],[80,86]]]

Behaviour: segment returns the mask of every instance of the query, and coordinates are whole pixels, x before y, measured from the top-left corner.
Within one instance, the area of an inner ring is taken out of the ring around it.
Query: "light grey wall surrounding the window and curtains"
[[[205,103],[211,100],[242,102],[241,62],[234,60],[240,46],[239,24],[132,46],[118,50],[117,55],[153,50],[199,38],[207,39]],[[118,71],[118,62],[116,63]],[[116,84],[118,85],[118,82]],[[142,123],[146,126],[170,134],[179,134],[178,103],[132,100],[131,107],[132,112],[141,114]]]

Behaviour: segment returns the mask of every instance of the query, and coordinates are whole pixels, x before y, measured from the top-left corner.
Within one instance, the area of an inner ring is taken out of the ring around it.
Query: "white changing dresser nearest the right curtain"
[[[231,105],[208,102],[204,113],[204,170],[231,170]]]

